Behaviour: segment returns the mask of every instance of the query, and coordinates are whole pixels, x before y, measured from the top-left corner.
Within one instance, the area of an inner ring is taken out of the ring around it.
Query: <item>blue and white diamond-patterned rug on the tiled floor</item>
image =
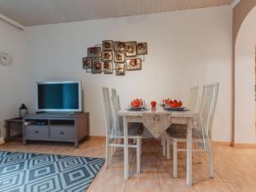
[[[84,192],[104,159],[0,151],[0,192]]]

